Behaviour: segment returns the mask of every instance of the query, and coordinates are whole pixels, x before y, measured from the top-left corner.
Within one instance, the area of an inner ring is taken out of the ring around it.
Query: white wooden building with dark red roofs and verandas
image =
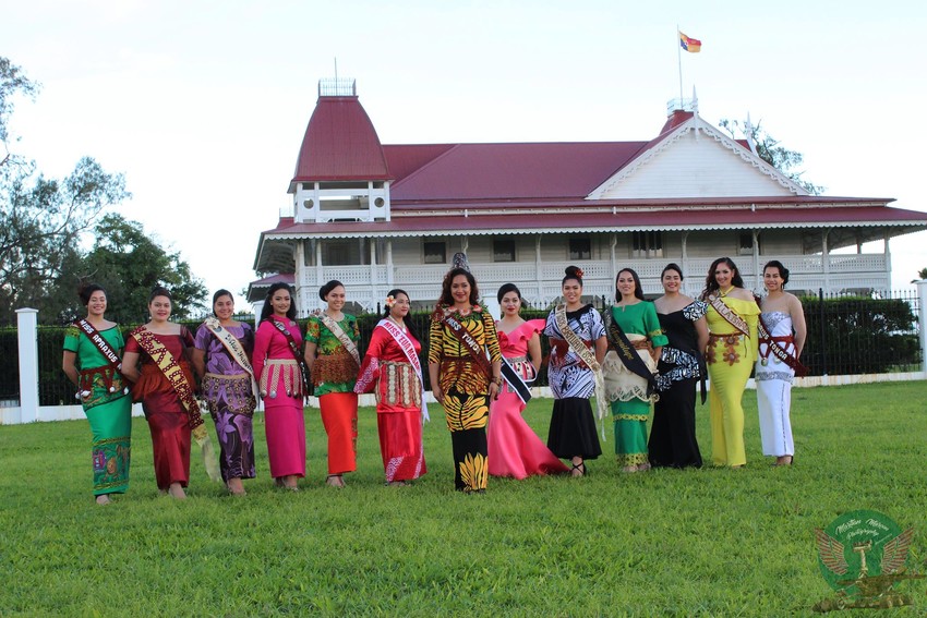
[[[320,83],[289,193],[254,262],[286,275],[252,283],[249,300],[291,280],[301,314],[330,279],[358,311],[394,287],[431,306],[456,252],[483,296],[511,281],[534,306],[559,296],[570,264],[588,296],[611,298],[624,267],[659,294],[670,262],[697,294],[720,256],[757,291],[769,259],[792,270],[792,291],[881,291],[890,240],[927,229],[892,198],[809,195],[697,109],[671,110],[650,142],[384,145],[352,82]],[[882,251],[863,253],[870,241]]]

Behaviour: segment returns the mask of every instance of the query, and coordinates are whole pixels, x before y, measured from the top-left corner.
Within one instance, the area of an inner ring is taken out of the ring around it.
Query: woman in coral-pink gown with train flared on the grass
[[[496,323],[499,347],[508,363],[526,384],[534,380],[541,364],[543,319],[526,322],[521,311],[521,292],[515,283],[498,290],[503,317]],[[562,474],[566,465],[544,446],[541,438],[528,426],[521,412],[525,402],[508,384],[504,384],[498,398],[490,407],[489,468],[493,476],[527,478],[532,474]]]

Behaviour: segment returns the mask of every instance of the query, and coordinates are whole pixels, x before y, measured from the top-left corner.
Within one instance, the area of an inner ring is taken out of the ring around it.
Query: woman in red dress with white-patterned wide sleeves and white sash
[[[419,360],[422,346],[411,320],[404,290],[390,290],[383,319],[373,329],[354,392],[376,393],[380,453],[389,486],[409,485],[428,472],[422,449],[424,389]]]

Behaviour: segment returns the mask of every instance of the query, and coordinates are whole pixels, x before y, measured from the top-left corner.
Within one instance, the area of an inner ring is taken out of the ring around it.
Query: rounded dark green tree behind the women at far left
[[[148,319],[148,294],[164,286],[173,296],[173,317],[201,314],[206,308],[207,290],[190,271],[179,253],[170,253],[145,232],[142,225],[121,215],[103,217],[95,228],[96,241],[76,267],[69,269],[61,288],[75,289],[76,281],[99,283],[107,291],[107,316],[116,322],[137,324]],[[69,322],[84,307],[71,293],[59,319]]]

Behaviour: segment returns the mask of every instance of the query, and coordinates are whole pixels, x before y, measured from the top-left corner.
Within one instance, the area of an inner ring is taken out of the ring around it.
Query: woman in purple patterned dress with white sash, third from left
[[[196,331],[193,365],[203,376],[202,391],[216,423],[219,468],[229,493],[245,494],[242,478],[254,478],[254,374],[251,352],[254,330],[232,319],[234,300],[228,290],[213,295],[213,314]]]

